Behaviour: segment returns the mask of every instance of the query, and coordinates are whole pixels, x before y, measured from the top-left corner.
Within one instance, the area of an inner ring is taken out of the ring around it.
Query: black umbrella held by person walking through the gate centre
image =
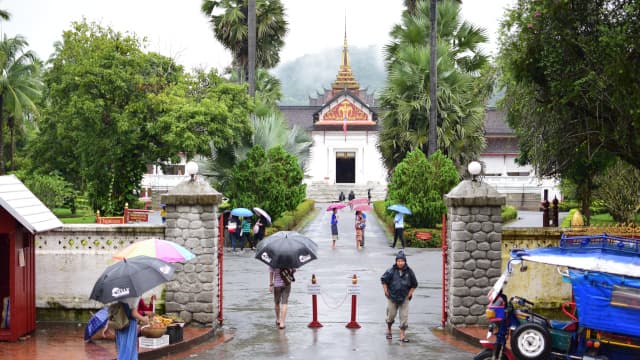
[[[318,258],[318,245],[295,231],[279,231],[257,245],[256,259],[272,268],[299,268]]]

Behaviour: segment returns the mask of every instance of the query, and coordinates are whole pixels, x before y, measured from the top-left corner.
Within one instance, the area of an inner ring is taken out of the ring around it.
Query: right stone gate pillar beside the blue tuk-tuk
[[[489,184],[462,181],[445,195],[449,253],[447,327],[486,324],[487,293],[501,274],[501,207]]]

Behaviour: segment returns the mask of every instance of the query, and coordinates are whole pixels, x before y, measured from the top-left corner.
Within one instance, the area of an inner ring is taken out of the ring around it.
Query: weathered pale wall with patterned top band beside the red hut
[[[139,240],[165,237],[164,225],[65,225],[36,236],[36,307],[96,309],[89,300],[111,256]],[[160,293],[158,289],[157,293]],[[157,296],[160,298],[159,296]]]

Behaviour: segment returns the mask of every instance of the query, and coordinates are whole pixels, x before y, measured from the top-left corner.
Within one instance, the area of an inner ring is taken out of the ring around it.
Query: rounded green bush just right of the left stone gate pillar
[[[282,146],[265,152],[254,146],[233,169],[225,194],[233,207],[260,207],[273,219],[295,209],[306,195],[298,159]]]

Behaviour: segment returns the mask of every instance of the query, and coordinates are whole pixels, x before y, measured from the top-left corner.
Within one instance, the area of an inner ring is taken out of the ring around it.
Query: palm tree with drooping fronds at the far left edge
[[[13,38],[4,35],[0,42],[0,175],[5,173],[5,113],[13,118],[13,132],[16,119],[22,119],[25,112],[36,111],[35,100],[42,88],[39,63],[32,51],[24,50],[26,46],[27,41],[20,35]]]

